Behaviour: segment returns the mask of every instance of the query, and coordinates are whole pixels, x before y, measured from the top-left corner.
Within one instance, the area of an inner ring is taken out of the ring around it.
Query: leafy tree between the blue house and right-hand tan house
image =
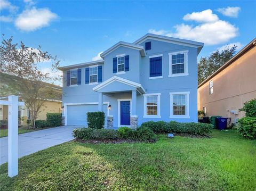
[[[201,57],[198,63],[198,85],[229,61],[236,53],[237,46],[215,51],[209,57]]]

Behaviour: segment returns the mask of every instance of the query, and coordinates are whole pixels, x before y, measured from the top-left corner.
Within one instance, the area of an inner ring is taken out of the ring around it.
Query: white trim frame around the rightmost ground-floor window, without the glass
[[[179,119],[186,118],[189,119],[189,94],[190,92],[170,92],[170,118],[171,119]],[[173,95],[177,94],[185,94],[186,95],[186,115],[173,115]]]

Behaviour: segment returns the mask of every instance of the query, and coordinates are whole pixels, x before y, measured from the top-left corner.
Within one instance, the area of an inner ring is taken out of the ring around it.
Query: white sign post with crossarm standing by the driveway
[[[18,110],[24,106],[18,96],[8,96],[8,101],[0,101],[1,105],[8,105],[8,176],[18,175]]]

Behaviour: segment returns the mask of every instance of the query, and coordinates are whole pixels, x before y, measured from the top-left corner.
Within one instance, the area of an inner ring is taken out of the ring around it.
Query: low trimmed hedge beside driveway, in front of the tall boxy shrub
[[[77,139],[83,140],[103,140],[116,139],[117,130],[114,129],[92,129],[92,128],[77,128],[73,130],[73,136]]]

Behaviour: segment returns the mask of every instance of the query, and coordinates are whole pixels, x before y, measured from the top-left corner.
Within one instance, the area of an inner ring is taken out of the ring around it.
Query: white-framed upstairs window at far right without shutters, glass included
[[[188,51],[169,53],[169,77],[188,75]]]

